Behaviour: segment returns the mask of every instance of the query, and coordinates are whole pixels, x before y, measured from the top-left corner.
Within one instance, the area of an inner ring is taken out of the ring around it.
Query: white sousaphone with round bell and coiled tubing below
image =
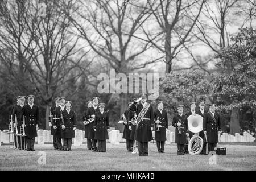
[[[188,143],[188,152],[191,155],[200,154],[203,149],[204,140],[199,136],[203,130],[203,117],[198,114],[192,114],[188,117],[188,130],[195,133]]]

